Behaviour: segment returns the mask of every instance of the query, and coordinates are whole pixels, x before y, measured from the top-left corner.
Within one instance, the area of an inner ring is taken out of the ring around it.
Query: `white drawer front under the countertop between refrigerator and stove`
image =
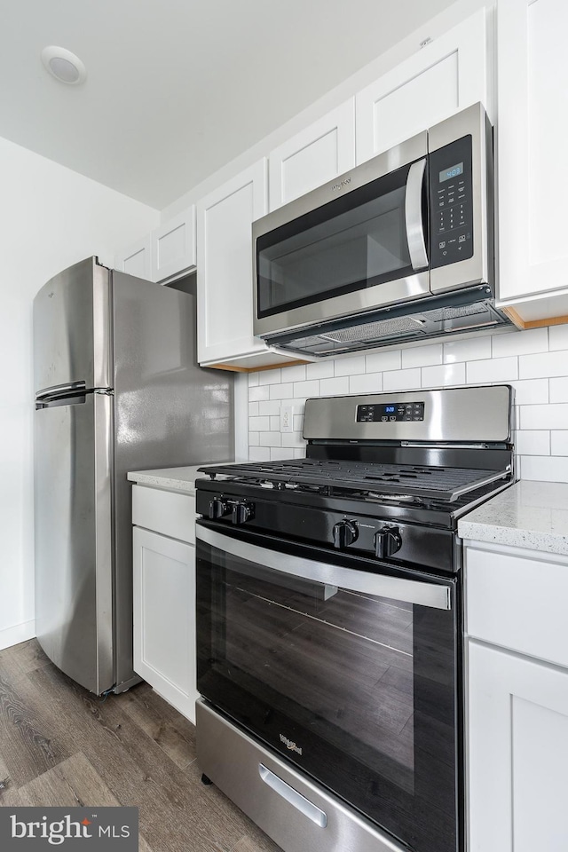
[[[172,539],[195,542],[195,497],[145,485],[132,487],[132,523]]]

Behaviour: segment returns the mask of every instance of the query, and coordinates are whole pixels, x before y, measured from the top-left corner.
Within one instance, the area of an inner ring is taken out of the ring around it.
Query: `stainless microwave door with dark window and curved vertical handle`
[[[430,295],[426,162],[395,149],[254,223],[255,335]]]

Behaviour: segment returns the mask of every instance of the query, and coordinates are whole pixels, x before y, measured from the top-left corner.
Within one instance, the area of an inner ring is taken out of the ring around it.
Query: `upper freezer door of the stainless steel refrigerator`
[[[34,299],[34,384],[109,388],[112,382],[109,272],[88,257],[60,272]]]

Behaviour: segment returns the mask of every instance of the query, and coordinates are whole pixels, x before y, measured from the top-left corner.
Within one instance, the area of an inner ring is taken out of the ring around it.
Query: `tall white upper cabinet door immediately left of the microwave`
[[[266,195],[263,158],[197,204],[200,363],[267,351],[252,333],[252,223],[266,213]]]

